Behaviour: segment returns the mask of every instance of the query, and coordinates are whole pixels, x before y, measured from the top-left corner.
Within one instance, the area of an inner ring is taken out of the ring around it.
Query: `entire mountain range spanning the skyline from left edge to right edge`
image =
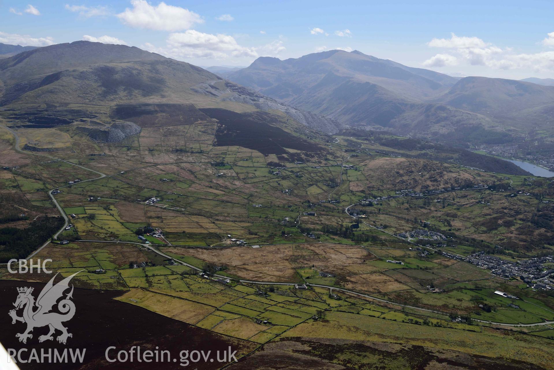
[[[0,50],[16,53],[0,60],[0,105],[188,102],[280,110],[325,133],[364,127],[461,143],[554,135],[548,79],[460,79],[343,50],[208,67],[214,73],[125,45],[0,44]]]

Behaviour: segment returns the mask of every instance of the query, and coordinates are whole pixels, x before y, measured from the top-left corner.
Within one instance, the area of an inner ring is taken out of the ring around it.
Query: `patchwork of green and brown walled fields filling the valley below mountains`
[[[0,256],[82,271],[72,282],[83,315],[112,312],[117,331],[133,327],[126,338],[141,341],[136,322],[116,323],[133,315],[164,343],[232,343],[233,369],[552,368],[552,296],[443,253],[517,262],[537,240],[549,248],[536,223],[554,201],[542,179],[345,152],[343,138],[325,155],[264,155],[214,146],[211,122],[147,127],[119,144],[69,130],[63,150],[33,155],[21,149],[28,130],[42,129],[0,131],[0,194],[18,209],[0,218],[34,246]],[[399,237],[422,228],[444,240]],[[8,301],[14,280],[50,279],[0,274]],[[101,292],[105,307],[86,303]]]

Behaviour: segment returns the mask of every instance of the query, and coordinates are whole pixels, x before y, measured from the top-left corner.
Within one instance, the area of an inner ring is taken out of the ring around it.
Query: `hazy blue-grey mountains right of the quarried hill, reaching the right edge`
[[[547,122],[554,120],[550,86],[454,78],[357,50],[286,60],[262,57],[227,78],[343,125],[407,135],[502,142],[552,130]]]

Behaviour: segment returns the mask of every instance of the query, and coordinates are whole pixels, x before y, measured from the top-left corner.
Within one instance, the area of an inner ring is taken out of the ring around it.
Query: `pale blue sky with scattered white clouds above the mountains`
[[[453,76],[554,78],[553,1],[0,0],[0,42],[126,44],[200,66],[331,49]]]

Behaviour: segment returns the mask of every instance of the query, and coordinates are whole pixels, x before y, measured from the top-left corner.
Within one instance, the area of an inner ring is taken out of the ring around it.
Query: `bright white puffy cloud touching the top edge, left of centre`
[[[154,7],[146,0],[131,0],[131,5],[132,8],[117,14],[121,22],[131,27],[174,32],[204,22],[197,13],[164,2]]]

